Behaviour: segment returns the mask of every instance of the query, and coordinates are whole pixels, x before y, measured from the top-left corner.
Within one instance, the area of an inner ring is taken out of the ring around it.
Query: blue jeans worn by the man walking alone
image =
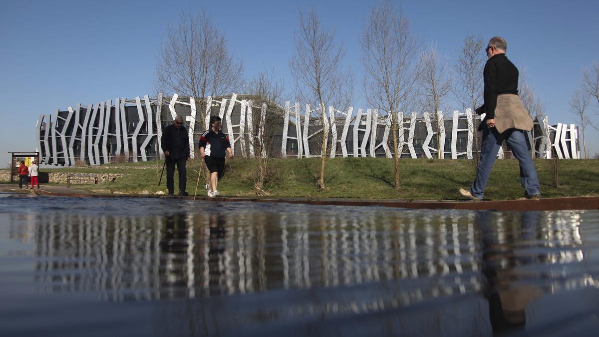
[[[539,177],[534,168],[533,159],[528,151],[528,145],[524,131],[509,129],[500,134],[495,128],[483,127],[483,143],[480,146],[479,169],[476,171],[476,180],[472,183],[470,192],[477,198],[482,198],[485,193],[486,183],[491,175],[491,169],[495,163],[497,152],[503,143],[512,148],[512,154],[520,162],[520,182],[528,195],[539,194]]]

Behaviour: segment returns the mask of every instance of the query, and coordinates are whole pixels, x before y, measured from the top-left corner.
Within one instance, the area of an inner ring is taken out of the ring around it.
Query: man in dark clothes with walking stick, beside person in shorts
[[[167,188],[168,195],[174,195],[175,164],[179,171],[179,195],[188,195],[187,170],[185,162],[189,159],[189,135],[183,127],[183,118],[177,116],[172,125],[164,128],[161,137],[162,152],[167,160]]]

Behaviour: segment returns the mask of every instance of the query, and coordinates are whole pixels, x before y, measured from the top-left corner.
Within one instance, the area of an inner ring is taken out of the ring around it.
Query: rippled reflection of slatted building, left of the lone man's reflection
[[[415,278],[437,280],[426,297],[480,290],[473,214],[414,215],[57,213],[34,219],[36,275],[47,291],[119,290],[111,300]]]

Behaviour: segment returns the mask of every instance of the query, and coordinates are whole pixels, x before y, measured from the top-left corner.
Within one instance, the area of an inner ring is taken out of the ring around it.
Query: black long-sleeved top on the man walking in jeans
[[[486,119],[495,118],[497,96],[500,94],[518,95],[518,68],[507,59],[506,54],[497,54],[488,59],[483,71],[485,80],[485,104],[476,109],[480,114],[486,113]]]

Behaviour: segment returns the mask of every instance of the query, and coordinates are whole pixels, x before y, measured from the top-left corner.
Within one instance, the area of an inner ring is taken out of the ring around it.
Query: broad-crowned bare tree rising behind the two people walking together
[[[203,9],[197,14],[183,12],[177,25],[168,25],[156,77],[162,91],[199,99],[199,121],[204,130],[208,110],[205,97],[241,88],[243,63],[229,55],[225,35]],[[189,127],[195,130],[195,125]]]

